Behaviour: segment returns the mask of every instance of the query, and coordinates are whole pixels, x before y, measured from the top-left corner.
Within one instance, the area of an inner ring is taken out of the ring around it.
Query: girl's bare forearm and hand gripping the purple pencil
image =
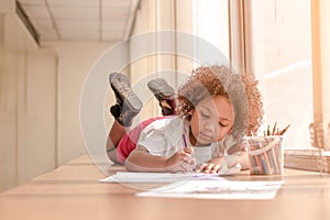
[[[131,172],[188,172],[194,164],[193,147],[165,157],[152,155],[146,148],[138,146],[127,158],[125,168]]]

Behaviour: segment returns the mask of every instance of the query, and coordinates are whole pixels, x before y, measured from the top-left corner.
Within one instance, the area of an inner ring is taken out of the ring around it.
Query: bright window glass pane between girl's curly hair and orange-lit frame
[[[254,74],[264,96],[265,124],[290,124],[285,146],[310,148],[314,121],[309,0],[253,0]]]

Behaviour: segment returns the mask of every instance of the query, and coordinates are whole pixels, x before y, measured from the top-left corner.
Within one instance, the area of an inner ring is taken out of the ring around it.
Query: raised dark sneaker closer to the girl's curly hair
[[[147,87],[158,100],[163,116],[175,114],[175,90],[163,78],[156,78],[147,82]]]

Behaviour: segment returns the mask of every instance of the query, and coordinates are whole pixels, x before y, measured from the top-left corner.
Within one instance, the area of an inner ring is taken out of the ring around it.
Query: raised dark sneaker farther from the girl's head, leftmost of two
[[[133,118],[142,109],[142,101],[132,90],[125,75],[112,73],[109,75],[109,81],[117,99],[117,105],[111,107],[110,111],[119,123],[130,127]]]

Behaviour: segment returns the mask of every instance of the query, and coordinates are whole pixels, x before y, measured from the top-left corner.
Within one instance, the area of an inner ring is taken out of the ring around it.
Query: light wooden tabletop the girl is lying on
[[[111,166],[109,174],[122,167]],[[285,184],[274,200],[204,200],[140,198],[147,185],[101,184],[106,175],[81,156],[70,163],[0,195],[1,220],[95,219],[253,219],[329,220],[330,176],[285,169],[284,176],[250,176],[234,180],[278,180]]]

